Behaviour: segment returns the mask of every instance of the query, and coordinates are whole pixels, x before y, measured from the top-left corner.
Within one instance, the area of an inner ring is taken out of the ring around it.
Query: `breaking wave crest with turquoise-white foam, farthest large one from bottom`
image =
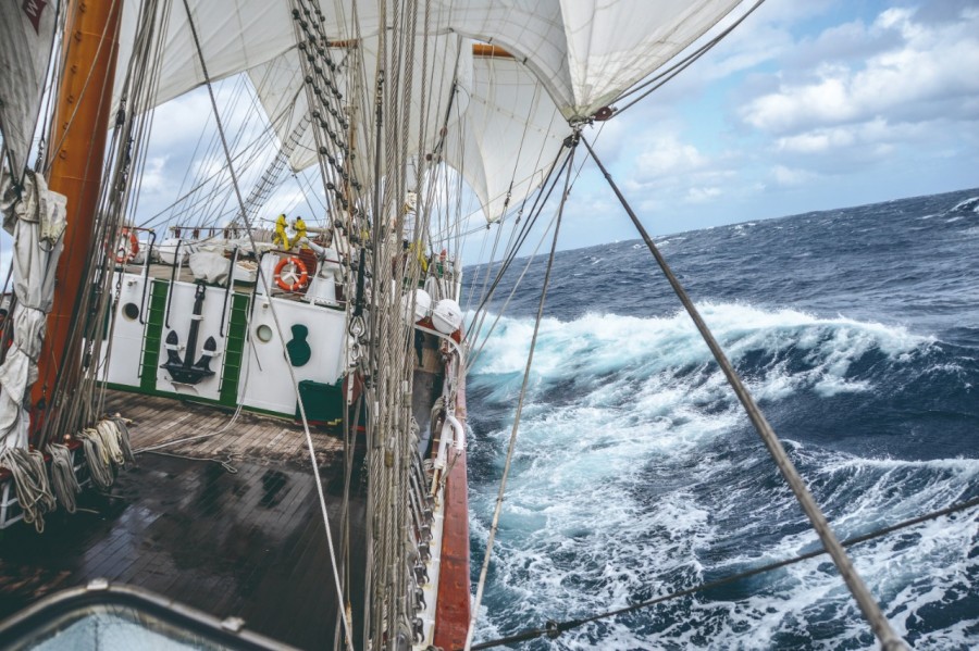
[[[851,377],[855,362],[876,354],[901,364],[934,342],[901,326],[844,316],[823,318],[739,303],[702,303],[698,310],[763,400],[802,389],[823,396],[870,390],[871,379]],[[525,366],[532,335],[531,320],[501,318],[479,353],[473,381],[511,391]],[[678,380],[684,390],[709,389],[712,383],[705,385],[704,374],[719,371],[708,367],[714,368],[710,352],[685,313],[646,318],[588,314],[571,322],[542,322],[532,373],[534,390],[562,384],[579,395],[593,392],[602,403],[627,399],[617,392],[620,385],[639,400]]]

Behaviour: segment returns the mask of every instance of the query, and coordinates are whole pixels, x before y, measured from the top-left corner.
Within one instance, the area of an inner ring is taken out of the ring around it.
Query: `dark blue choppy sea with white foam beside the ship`
[[[979,189],[658,242],[841,539],[979,496]],[[473,585],[545,258],[481,348],[473,339]],[[525,263],[497,290],[482,335]],[[467,268],[469,306],[486,272]],[[558,253],[478,639],[817,548],[642,242]],[[914,648],[979,648],[979,510],[851,556]],[[875,646],[821,556],[517,648]]]

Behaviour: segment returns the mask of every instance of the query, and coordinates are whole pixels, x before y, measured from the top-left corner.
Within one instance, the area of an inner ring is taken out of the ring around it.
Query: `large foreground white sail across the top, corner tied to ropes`
[[[565,117],[572,120],[614,102],[740,2],[432,0],[427,35],[456,34],[504,47],[544,85]],[[213,79],[268,63],[296,42],[288,2],[190,0],[189,4]],[[121,75],[133,47],[137,7],[137,0],[126,0]],[[332,38],[365,38],[379,33],[375,2],[321,1],[320,8]],[[423,11],[419,9],[420,14]],[[419,34],[424,32],[421,15],[414,24]],[[172,7],[166,40],[158,103],[203,82],[183,2]]]

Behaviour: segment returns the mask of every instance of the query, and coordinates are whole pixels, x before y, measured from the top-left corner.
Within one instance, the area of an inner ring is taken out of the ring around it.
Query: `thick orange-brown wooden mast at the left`
[[[48,187],[67,197],[64,252],[58,262],[54,304],[38,359],[38,380],[30,402],[49,399],[55,384],[73,381],[80,360],[65,360],[75,299],[85,291],[83,278],[92,247],[92,224],[102,185],[106,136],[112,109],[112,83],[119,52],[122,0],[80,0],[67,9],[60,93],[50,141],[54,147]],[[32,424],[37,431],[38,422]]]

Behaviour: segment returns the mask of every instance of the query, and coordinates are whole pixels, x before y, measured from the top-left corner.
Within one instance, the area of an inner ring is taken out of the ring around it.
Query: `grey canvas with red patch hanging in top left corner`
[[[57,14],[57,0],[0,2],[0,128],[17,178],[37,126]]]

